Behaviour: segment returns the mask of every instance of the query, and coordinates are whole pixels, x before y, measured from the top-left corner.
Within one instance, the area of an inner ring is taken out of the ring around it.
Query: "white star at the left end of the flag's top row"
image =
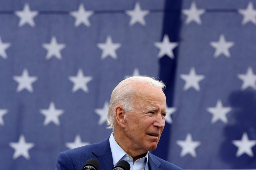
[[[25,4],[23,11],[15,11],[15,15],[20,17],[19,27],[22,27],[24,24],[29,24],[31,27],[35,26],[33,18],[38,15],[38,11],[30,11],[29,4]]]

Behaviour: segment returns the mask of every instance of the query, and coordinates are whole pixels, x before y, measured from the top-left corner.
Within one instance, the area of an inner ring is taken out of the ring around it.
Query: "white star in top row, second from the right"
[[[202,21],[200,19],[200,15],[205,13],[205,10],[204,9],[197,9],[196,3],[193,1],[191,3],[190,9],[183,9],[182,13],[187,16],[187,19],[185,21],[186,24],[189,24],[192,21],[194,21],[197,24],[201,25]]]

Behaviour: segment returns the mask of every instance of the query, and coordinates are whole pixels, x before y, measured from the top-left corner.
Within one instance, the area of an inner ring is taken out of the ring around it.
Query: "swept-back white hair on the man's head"
[[[152,87],[160,88],[162,90],[165,88],[163,81],[156,80],[152,77],[134,76],[121,81],[114,88],[111,94],[107,117],[107,128],[113,128],[114,130],[116,106],[122,106],[125,112],[131,112],[133,110],[134,88],[132,87],[132,84],[136,82],[145,83]]]

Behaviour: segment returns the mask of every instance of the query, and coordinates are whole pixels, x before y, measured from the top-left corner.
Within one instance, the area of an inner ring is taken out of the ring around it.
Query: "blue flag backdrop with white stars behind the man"
[[[167,85],[156,156],[256,169],[256,1],[0,1],[0,169],[100,142],[124,78]]]

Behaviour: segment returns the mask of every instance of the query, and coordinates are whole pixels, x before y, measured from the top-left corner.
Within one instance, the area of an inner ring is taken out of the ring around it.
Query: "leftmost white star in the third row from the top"
[[[25,68],[23,69],[21,76],[13,76],[13,79],[19,83],[16,91],[20,92],[23,89],[27,89],[30,93],[33,92],[32,83],[37,80],[36,76],[29,76],[28,70]]]

